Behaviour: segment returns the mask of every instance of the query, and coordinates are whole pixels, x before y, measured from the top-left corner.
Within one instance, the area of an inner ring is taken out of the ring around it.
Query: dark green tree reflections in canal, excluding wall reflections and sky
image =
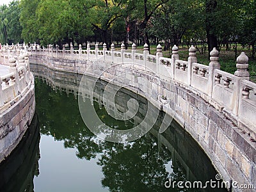
[[[98,164],[104,173],[102,186],[110,191],[170,191],[164,188],[168,177],[186,181],[186,168],[177,159],[175,164],[168,164],[173,160],[172,154],[166,149],[159,150],[156,135],[148,133],[128,144],[98,140],[84,125],[74,97],[55,92],[42,80],[36,79],[35,84],[41,133],[52,135],[55,140],[63,140],[65,148],[76,148],[76,156],[79,159],[90,160],[100,154]],[[97,101],[94,101],[94,108],[103,122],[114,125],[115,120],[108,116],[106,109]],[[125,125],[121,121],[115,122],[115,125],[120,129],[131,129],[133,126],[131,122],[127,126],[127,122]],[[178,135],[173,137],[179,140]],[[167,164],[172,168],[166,168]],[[180,191],[177,188],[173,190]]]

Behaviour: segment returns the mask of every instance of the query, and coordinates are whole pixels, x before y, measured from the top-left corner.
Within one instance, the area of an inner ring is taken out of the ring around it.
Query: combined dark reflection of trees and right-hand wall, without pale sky
[[[216,171],[211,161],[177,123],[173,121],[168,130],[159,134],[164,113],[160,113],[153,129],[142,138],[129,143],[110,143],[98,140],[84,125],[76,100],[77,97],[83,97],[84,102],[91,102],[100,119],[109,126],[131,129],[140,124],[147,113],[145,109],[148,102],[143,97],[120,90],[115,96],[118,110],[127,110],[129,98],[140,100],[140,109],[131,120],[116,121],[108,115],[109,110],[104,106],[106,103],[101,99],[106,83],[99,81],[93,93],[84,97],[78,92],[81,76],[55,72],[40,65],[31,65],[31,70],[37,77],[36,109],[40,116],[41,133],[53,136],[54,140],[63,141],[65,148],[76,148],[76,156],[79,159],[96,159],[104,174],[101,180],[102,188],[108,188],[110,191],[186,191],[179,188],[166,189],[164,182],[169,177],[176,181],[206,181],[215,178]],[[71,94],[74,97],[70,97]],[[47,158],[51,161],[51,157]],[[90,180],[90,174],[92,172],[84,179]],[[72,186],[72,180],[70,185]]]

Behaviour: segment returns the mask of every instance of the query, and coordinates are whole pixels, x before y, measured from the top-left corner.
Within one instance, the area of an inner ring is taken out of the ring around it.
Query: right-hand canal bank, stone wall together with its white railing
[[[189,50],[188,61],[180,61],[177,58],[176,61],[168,60],[161,58],[161,55],[157,58],[157,56],[136,54],[136,52],[116,52],[115,49],[99,52],[88,49],[87,52],[84,52],[85,57],[83,58],[82,52],[81,49],[74,53],[73,50],[65,52],[44,49],[33,53],[31,60],[33,63],[45,65],[54,70],[78,74],[86,72],[86,75],[100,77],[109,82],[117,77],[115,84],[122,86],[125,81],[129,81],[136,86],[126,88],[141,95],[143,94],[138,88],[144,86],[145,90],[150,91],[147,93],[149,96],[147,99],[158,109],[162,109],[170,115],[174,114],[175,120],[204,149],[224,180],[256,185],[256,146],[253,142],[255,140],[255,125],[252,124],[255,118],[250,118],[254,114],[255,104],[252,102],[253,95],[252,97],[246,96],[247,93],[251,94],[250,90],[253,90],[255,85],[247,81],[246,77],[243,79],[239,74],[239,72],[245,74],[243,72],[245,71],[243,65],[246,65],[244,56],[237,59],[237,77],[218,69],[218,52],[216,53],[216,51],[211,54],[211,67],[196,63],[194,49]],[[101,56],[95,60],[97,62],[89,60],[90,57],[95,59],[97,56]],[[177,51],[173,56],[177,56]],[[131,62],[134,60],[154,70],[148,72],[143,67],[134,68],[134,65],[132,66],[134,63]],[[125,66],[125,61],[130,61],[131,65]],[[192,66],[194,73],[191,74],[188,70],[191,72]],[[168,68],[166,69],[166,67]],[[171,74],[175,74],[174,81],[170,80],[172,76],[168,76],[170,75],[169,69]],[[199,69],[200,73],[198,73]],[[157,83],[159,77],[154,72],[163,80],[161,83]],[[120,74],[123,74],[124,77],[120,77]],[[224,81],[220,79],[223,76],[227,77]],[[239,79],[239,77],[241,78]],[[140,81],[141,79],[143,81]],[[233,86],[230,81],[234,82],[233,84],[240,83],[246,88],[240,84]],[[237,88],[243,88],[243,92]],[[77,95],[81,94],[79,90],[74,92]],[[239,104],[239,108],[237,104]],[[249,106],[250,108],[248,108]],[[234,190],[240,191],[239,189]]]

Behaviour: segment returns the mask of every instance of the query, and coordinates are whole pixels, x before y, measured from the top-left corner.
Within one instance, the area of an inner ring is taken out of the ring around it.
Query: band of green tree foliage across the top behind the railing
[[[255,55],[255,0],[20,0],[0,6],[2,43],[240,43]]]

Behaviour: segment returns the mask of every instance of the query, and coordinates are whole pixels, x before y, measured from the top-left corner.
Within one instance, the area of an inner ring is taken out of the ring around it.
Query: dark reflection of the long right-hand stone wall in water
[[[31,71],[34,73],[35,77],[39,77],[47,82],[54,90],[61,90],[62,92],[74,93],[75,98],[77,99],[77,95],[79,93],[79,84],[81,82],[81,75],[77,74],[69,74],[66,72],[57,72],[51,70],[47,67],[41,65],[31,65]],[[99,106],[113,106],[114,103],[103,103],[103,92],[106,87],[105,81],[98,81],[96,83],[95,88],[92,90],[93,80],[92,77],[88,77],[86,80],[86,87],[88,88],[88,92],[84,95],[84,99],[89,98],[93,99],[94,102],[98,102]],[[114,89],[113,85],[113,89]],[[92,97],[93,94],[93,97]],[[111,97],[112,93],[109,93],[109,97]],[[115,105],[116,108],[125,113],[127,108],[127,101],[131,98],[135,98],[140,103],[139,112],[129,120],[129,122],[133,124],[140,124],[143,120],[143,117],[147,113],[147,100],[136,93],[133,93],[129,90],[122,89],[120,92],[117,92],[115,96]],[[155,111],[155,113],[150,114],[154,116],[158,116],[159,110],[154,109],[150,111]],[[159,120],[157,120],[154,129],[150,130],[150,133],[153,134],[157,140],[160,142],[159,145],[166,147],[170,153],[172,154],[173,166],[176,165],[177,162],[181,164],[181,166],[186,170],[186,176],[188,180],[195,179],[206,179],[209,178],[209,175],[216,175],[216,171],[214,170],[211,161],[202,151],[202,149],[198,146],[198,144],[189,136],[188,132],[184,131],[173,121],[172,125],[170,125],[169,129],[165,131],[163,134],[158,133],[158,129],[162,123],[164,113],[160,113]],[[163,122],[164,123],[164,122]],[[207,168],[202,172],[202,167]]]

